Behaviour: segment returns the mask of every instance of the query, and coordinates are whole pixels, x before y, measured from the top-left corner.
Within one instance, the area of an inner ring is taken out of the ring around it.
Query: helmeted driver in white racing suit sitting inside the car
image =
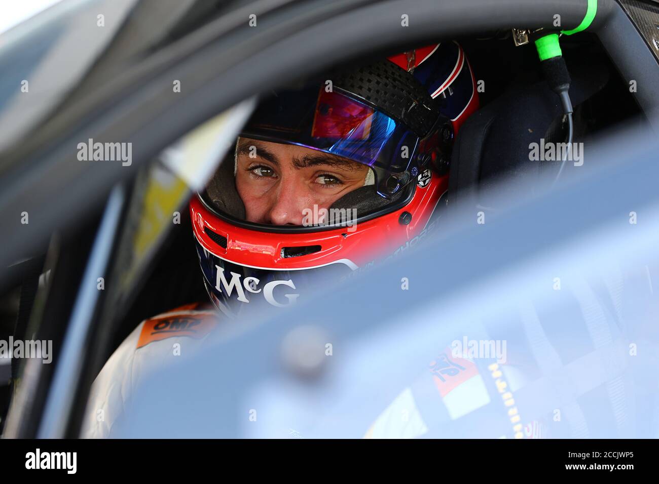
[[[222,319],[285,307],[351,277],[434,227],[459,126],[478,109],[454,42],[343,70],[266,97],[190,202],[214,308],[142,321],[98,375],[82,437],[112,437],[132,389],[189,354]]]

